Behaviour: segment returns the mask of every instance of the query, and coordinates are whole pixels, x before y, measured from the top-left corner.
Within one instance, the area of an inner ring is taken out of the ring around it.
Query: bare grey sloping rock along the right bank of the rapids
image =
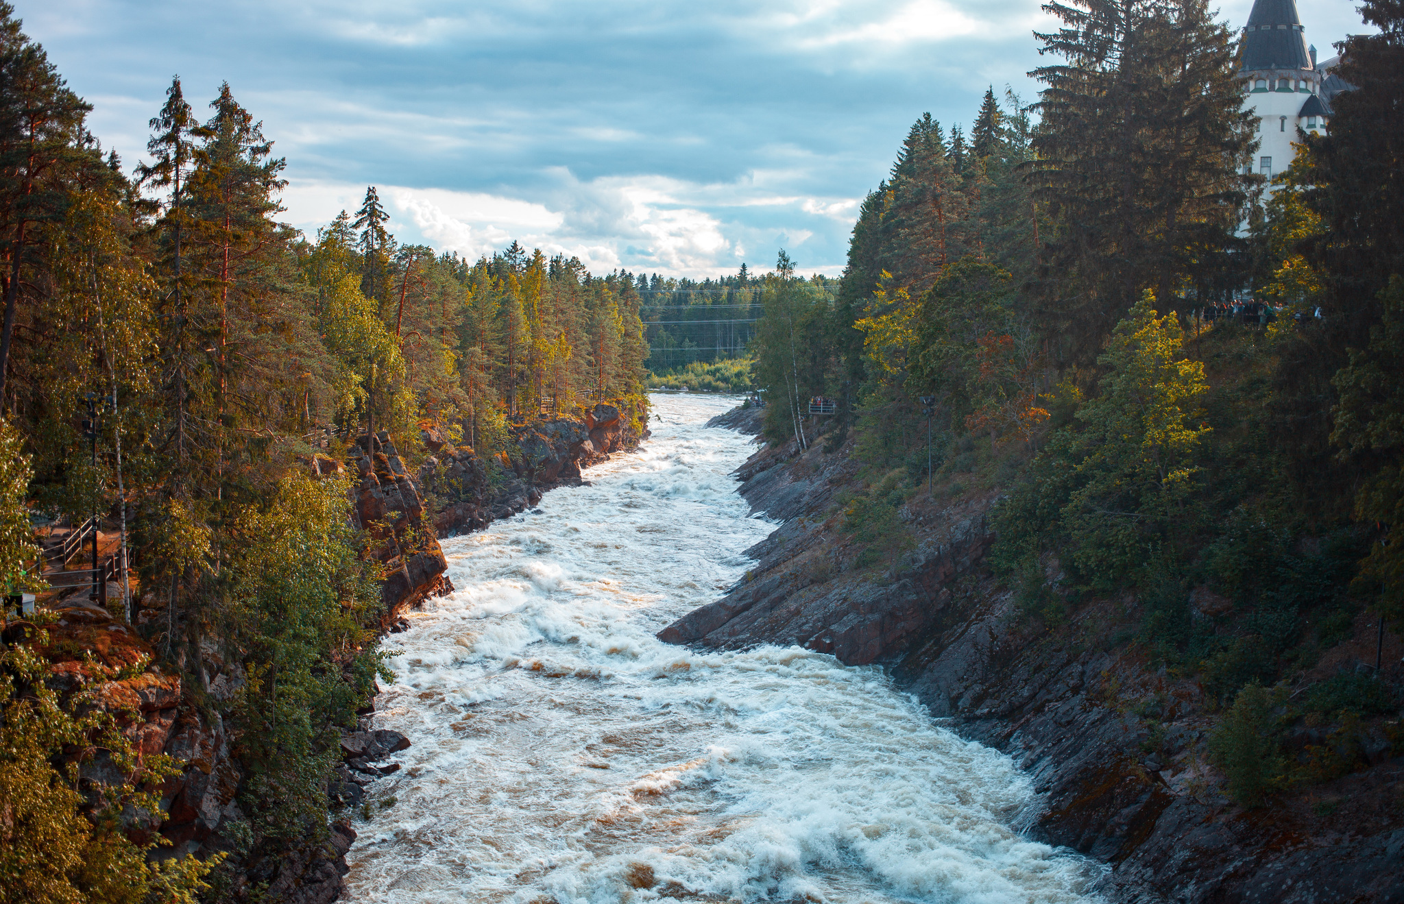
[[[744,413],[717,425],[758,430]],[[855,469],[847,446],[821,445],[762,449],[737,470],[741,494],[783,524],[750,550],[758,561],[746,580],[663,640],[793,643],[892,667],[932,716],[1032,773],[1042,795],[1032,832],[1106,863],[1101,890],[1112,900],[1404,901],[1404,758],[1360,751],[1344,779],[1237,807],[1207,762],[1202,689],[1113,636],[1134,598],[1082,606],[1056,634],[1018,618],[984,564],[993,493],[910,504],[901,519],[915,549],[859,571],[831,512]],[[1373,623],[1359,623],[1355,646],[1323,668],[1373,661]],[[1387,636],[1384,660],[1401,653]]]

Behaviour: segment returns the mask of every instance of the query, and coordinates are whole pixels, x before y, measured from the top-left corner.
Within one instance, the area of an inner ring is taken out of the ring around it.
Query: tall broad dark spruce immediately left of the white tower
[[[1032,73],[1047,86],[1035,198],[1063,225],[1043,261],[1045,309],[1071,341],[1063,354],[1091,361],[1141,289],[1172,306],[1206,278],[1205,248],[1240,244],[1254,138],[1233,39],[1203,0],[1046,8],[1064,27],[1038,35],[1040,52],[1067,62]]]

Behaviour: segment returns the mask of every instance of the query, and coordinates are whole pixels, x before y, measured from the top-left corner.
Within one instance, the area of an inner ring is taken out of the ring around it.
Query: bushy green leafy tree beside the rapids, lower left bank
[[[230,556],[230,622],[247,650],[244,795],[261,838],[292,839],[326,811],[336,726],[355,724],[380,654],[361,613],[376,598],[345,518],[347,484],[289,474],[246,511]]]

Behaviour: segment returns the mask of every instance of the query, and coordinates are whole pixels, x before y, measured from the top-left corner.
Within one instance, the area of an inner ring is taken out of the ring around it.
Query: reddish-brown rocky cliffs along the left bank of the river
[[[438,538],[482,529],[541,501],[552,487],[578,484],[581,467],[621,451],[632,451],[647,435],[644,410],[597,404],[583,417],[536,421],[512,431],[503,452],[479,458],[455,448],[438,428],[421,437],[430,455],[410,474],[385,434],[371,452],[365,437],[344,460],[314,453],[300,466],[316,477],[352,477],[351,521],[369,539],[365,554],[379,561],[385,581],[380,606],[372,613],[380,632],[403,630],[406,609],[431,595],[448,594],[448,563]],[[115,585],[114,585],[115,587]],[[118,590],[111,591],[114,598]],[[138,594],[132,625],[93,605],[83,594],[59,599],[55,620],[45,626],[48,643],[37,650],[51,663],[49,684],[60,695],[88,691],[112,713],[142,755],[167,754],[185,764],[160,787],[161,818],[135,825],[138,841],[161,835],[156,856],[201,859],[222,853],[220,900],[329,904],[341,894],[345,853],[355,839],[352,818],[365,803],[366,786],[399,769],[388,758],[411,744],[395,731],[372,730],[372,709],[362,710],[355,731],[343,733],[340,761],[326,776],[333,809],[327,825],[309,825],[299,841],[250,846],[239,792],[247,779],[239,758],[239,737],[220,716],[246,685],[237,650],[206,636],[199,657],[181,654],[174,670],[150,665],[157,650],[146,636],[164,625],[159,594]],[[11,623],[13,643],[35,627]],[[198,661],[195,661],[198,658]],[[133,677],[121,677],[131,675]],[[184,678],[183,678],[184,675]],[[84,787],[97,793],[118,780],[105,759],[84,766]]]

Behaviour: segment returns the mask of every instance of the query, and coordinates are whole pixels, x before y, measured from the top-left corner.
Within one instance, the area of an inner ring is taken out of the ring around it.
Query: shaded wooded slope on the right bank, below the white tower
[[[771,449],[741,477],[753,504],[800,518],[757,547],[748,584],[661,636],[899,663],[938,714],[972,724],[1033,712],[988,675],[1052,665],[1046,681],[1071,650],[1115,664],[1084,705],[1129,713],[1120,750],[1150,764],[1137,775],[1179,775],[1178,793],[1245,814],[1310,806],[1318,838],[1384,838],[1404,825],[1398,771],[1382,765],[1404,754],[1404,195],[1380,181],[1400,132],[1376,124],[1404,102],[1404,17],[1360,7],[1380,34],[1339,45],[1355,90],[1268,185],[1245,174],[1255,124],[1205,4],[1046,8],[1061,28],[1042,51],[1061,62],[1033,73],[1036,124],[993,91],[969,140],[917,121],[862,206],[837,295],[782,254],[751,345]],[[1276,316],[1205,321],[1243,289]],[[812,396],[841,400],[837,414],[810,417]],[[757,476],[789,456],[783,476]],[[932,578],[922,563],[956,556],[956,533],[965,564]],[[936,605],[868,615],[882,585]],[[998,601],[1008,619],[981,620]],[[876,634],[854,633],[859,613]],[[927,698],[922,675],[960,644],[960,674]],[[1109,795],[1087,786],[1049,818]],[[1085,838],[1068,844],[1113,863],[1139,844]],[[1213,894],[1212,872],[1178,882]]]

